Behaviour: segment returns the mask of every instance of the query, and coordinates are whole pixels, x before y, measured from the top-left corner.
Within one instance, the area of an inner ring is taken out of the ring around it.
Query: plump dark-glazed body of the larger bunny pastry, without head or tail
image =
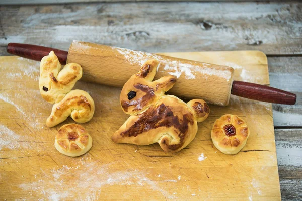
[[[189,107],[172,95],[162,96],[143,113],[132,115],[116,131],[116,143],[148,145],[158,142],[163,150],[177,152],[195,137],[197,121]]]

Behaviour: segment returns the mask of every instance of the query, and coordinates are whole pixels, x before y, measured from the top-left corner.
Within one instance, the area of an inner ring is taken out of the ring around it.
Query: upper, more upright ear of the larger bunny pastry
[[[136,75],[148,81],[152,81],[158,65],[159,62],[156,59],[148,60],[141,66],[139,72]]]

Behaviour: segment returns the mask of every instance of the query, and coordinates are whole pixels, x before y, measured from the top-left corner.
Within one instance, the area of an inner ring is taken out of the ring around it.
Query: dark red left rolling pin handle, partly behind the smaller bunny
[[[21,56],[27,59],[35,61],[41,61],[44,56],[47,56],[50,51],[54,51],[61,64],[65,65],[67,61],[67,51],[54,49],[50,47],[43,47],[39,45],[30,45],[22,43],[9,43],[7,46],[7,52]]]

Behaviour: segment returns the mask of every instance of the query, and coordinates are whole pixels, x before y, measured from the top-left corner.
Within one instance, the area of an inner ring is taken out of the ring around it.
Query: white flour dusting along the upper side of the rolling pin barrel
[[[162,70],[157,68],[157,71],[168,72],[168,74],[179,78],[184,74],[186,79],[195,79],[196,73],[199,73],[199,76],[203,76],[204,79],[207,79],[209,76],[218,76],[226,81],[229,81],[231,73],[221,69],[215,69],[208,67],[209,64],[204,63],[203,68],[200,68],[196,65],[196,62],[192,61],[190,63],[184,64],[181,61],[177,60],[167,60],[161,57],[160,55],[150,54],[141,51],[132,51],[125,48],[112,47],[113,50],[118,51],[122,54],[125,59],[127,59],[131,64],[142,65],[148,59],[157,59],[164,66]]]

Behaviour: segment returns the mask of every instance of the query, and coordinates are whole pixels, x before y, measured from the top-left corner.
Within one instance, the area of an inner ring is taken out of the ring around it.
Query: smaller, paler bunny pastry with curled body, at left
[[[68,116],[76,122],[88,122],[95,110],[92,97],[83,90],[71,90],[82,77],[82,67],[68,63],[60,69],[61,64],[53,51],[41,60],[40,93],[47,102],[54,104],[46,125],[53,127]]]

